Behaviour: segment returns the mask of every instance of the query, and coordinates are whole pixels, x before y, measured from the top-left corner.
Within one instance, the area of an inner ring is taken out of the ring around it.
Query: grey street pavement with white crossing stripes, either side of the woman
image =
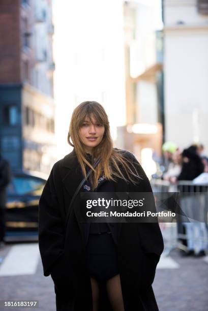
[[[208,257],[183,258],[177,250],[161,256],[153,288],[160,311],[207,311]],[[8,244],[0,250],[0,300],[38,300],[37,310],[55,311],[53,282],[43,276],[37,243]],[[29,310],[0,307],[11,309]]]

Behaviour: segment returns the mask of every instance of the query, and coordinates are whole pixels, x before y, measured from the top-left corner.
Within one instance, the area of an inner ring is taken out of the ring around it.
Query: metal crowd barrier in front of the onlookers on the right
[[[171,184],[167,180],[153,178],[151,185],[154,193],[180,192],[179,205],[189,216],[188,221],[197,223],[197,220],[203,220],[203,226],[206,226],[206,234],[203,237],[203,241],[207,245],[208,184],[194,184],[192,181],[187,180],[180,180],[176,184]],[[172,218],[171,222],[159,223],[159,225],[164,240],[163,256],[168,256],[175,248],[187,251],[188,235],[185,223],[175,222],[175,219]],[[195,237],[196,242],[199,239],[201,237]]]

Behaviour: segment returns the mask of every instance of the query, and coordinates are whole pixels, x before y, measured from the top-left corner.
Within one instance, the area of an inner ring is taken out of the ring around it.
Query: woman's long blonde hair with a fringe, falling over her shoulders
[[[86,152],[84,151],[84,146],[79,136],[79,129],[82,125],[82,122],[87,117],[93,123],[92,116],[100,125],[103,125],[105,128],[102,141],[98,146],[93,148],[93,159],[101,159],[95,169],[86,159]],[[70,138],[72,142],[70,141]],[[86,177],[85,165],[88,165],[93,170],[93,173],[90,176],[93,189],[96,188],[98,178],[101,174],[103,174],[108,180],[115,181],[115,177],[118,177],[123,178],[126,181],[129,179],[134,184],[136,183],[136,180],[140,178],[132,161],[129,161],[124,157],[121,152],[122,150],[113,149],[113,141],[110,136],[108,116],[101,104],[94,101],[86,101],[74,109],[67,140],[68,143],[75,149],[83,175]],[[122,169],[124,170],[124,173],[122,172]]]

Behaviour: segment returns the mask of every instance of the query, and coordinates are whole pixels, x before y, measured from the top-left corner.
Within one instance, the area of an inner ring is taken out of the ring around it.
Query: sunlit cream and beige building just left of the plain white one
[[[124,3],[127,118],[117,133],[117,145],[131,150],[149,175],[153,152],[161,154],[164,124],[163,33],[154,14],[154,1]]]

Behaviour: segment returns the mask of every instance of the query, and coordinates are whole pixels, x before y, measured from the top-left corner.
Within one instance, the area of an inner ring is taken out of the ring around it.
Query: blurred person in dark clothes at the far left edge
[[[5,213],[6,213],[6,187],[11,181],[10,164],[3,159],[0,153],[0,247],[4,246],[5,239]]]

